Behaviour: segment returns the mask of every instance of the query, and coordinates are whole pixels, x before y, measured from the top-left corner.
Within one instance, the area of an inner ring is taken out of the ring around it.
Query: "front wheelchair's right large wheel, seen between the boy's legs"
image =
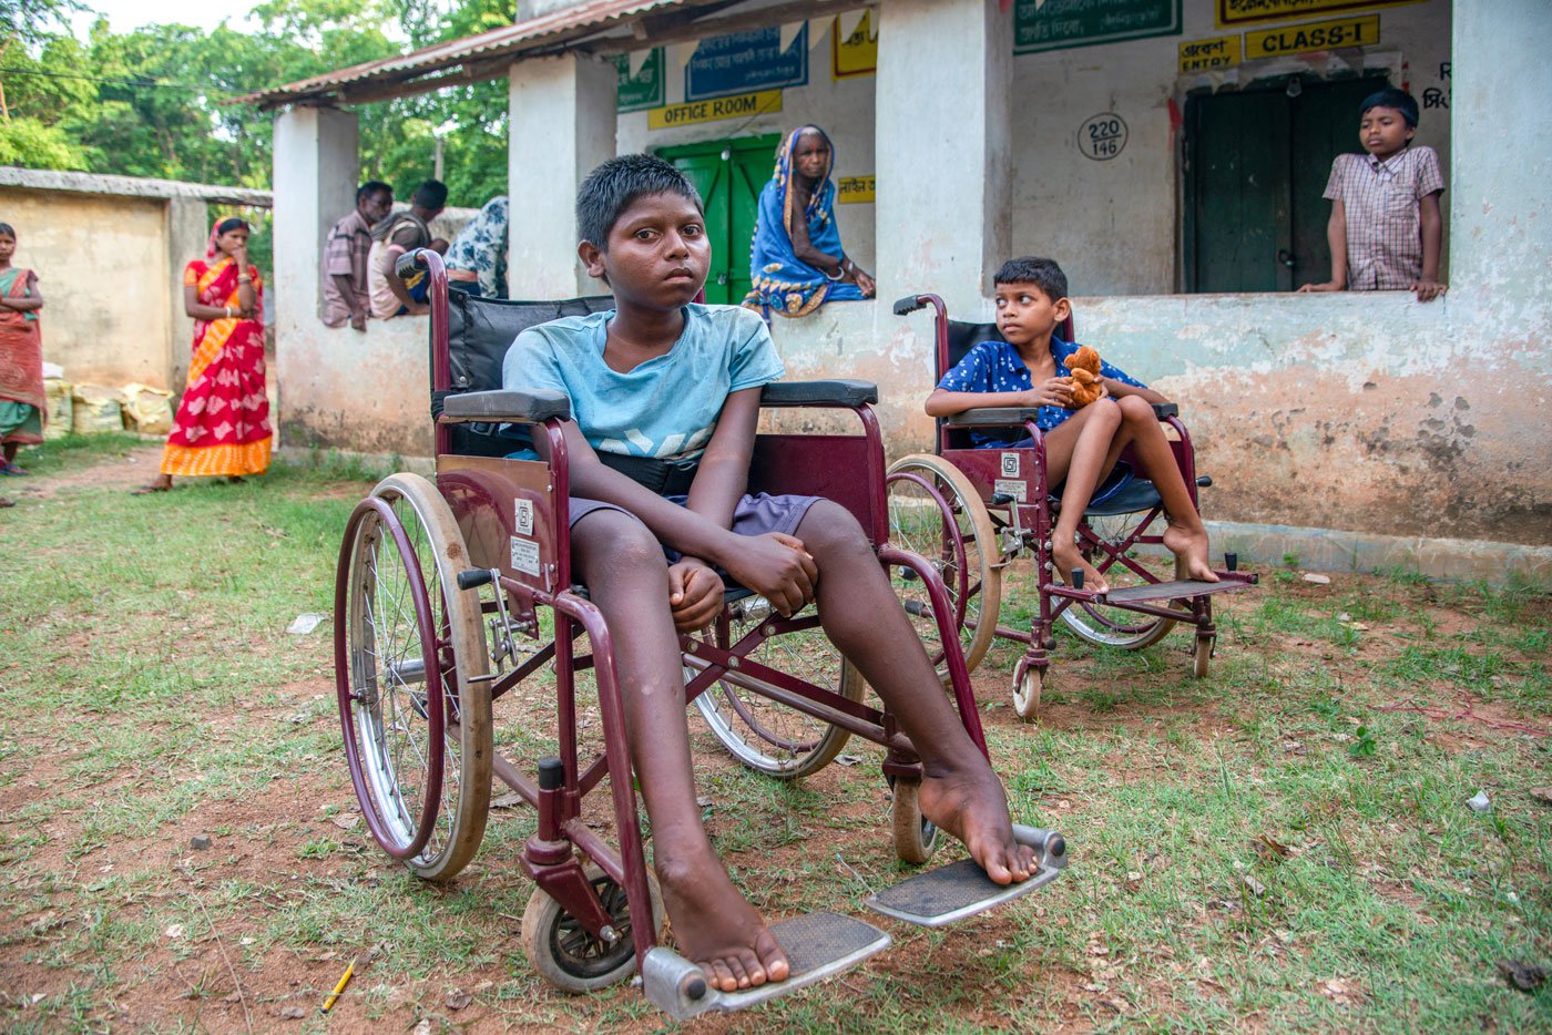
[[[802,614],[812,613],[812,605],[802,611]],[[728,624],[725,646],[739,642],[768,619],[770,613],[736,610]],[[824,630],[818,627],[771,636],[748,658],[805,683],[835,691],[858,704],[868,689],[861,673],[835,650]],[[850,732],[840,726],[778,704],[726,680],[697,697],[695,708],[733,757],[751,770],[784,781],[818,773],[841,753],[850,737]]]

